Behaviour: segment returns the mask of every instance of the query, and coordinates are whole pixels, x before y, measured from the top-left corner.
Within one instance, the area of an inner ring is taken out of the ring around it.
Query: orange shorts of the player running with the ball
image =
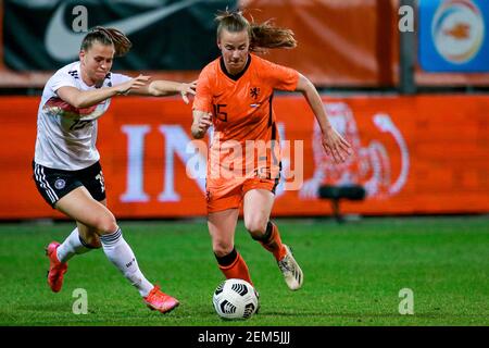
[[[206,185],[208,213],[227,209],[239,209],[246,192],[251,189],[266,189],[275,195],[279,178],[267,179],[251,177],[239,181],[228,181],[224,185],[213,186],[212,182]]]

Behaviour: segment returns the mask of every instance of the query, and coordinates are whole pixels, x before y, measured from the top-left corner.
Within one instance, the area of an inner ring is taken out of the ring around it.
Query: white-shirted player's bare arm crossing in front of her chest
[[[139,75],[138,77],[131,78],[128,82],[117,86],[103,87],[92,90],[79,90],[75,87],[63,86],[58,88],[57,94],[62,100],[66,101],[74,108],[89,108],[111,97],[126,95],[129,91],[137,90],[146,86],[149,79],[149,76]]]

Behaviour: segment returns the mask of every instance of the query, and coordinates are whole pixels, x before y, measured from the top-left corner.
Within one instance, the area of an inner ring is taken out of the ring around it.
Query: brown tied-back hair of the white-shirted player
[[[102,45],[113,45],[115,49],[115,57],[125,55],[133,46],[129,39],[122,32],[115,28],[96,26],[84,37],[80,50],[87,51],[91,48],[95,41]]]

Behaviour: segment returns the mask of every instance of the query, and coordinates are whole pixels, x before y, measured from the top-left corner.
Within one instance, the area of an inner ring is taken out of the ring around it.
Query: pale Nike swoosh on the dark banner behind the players
[[[202,0],[178,1],[167,7],[151,10],[142,14],[133,15],[124,20],[102,23],[100,26],[114,27],[123,32],[125,35],[130,35],[200,1]],[[58,8],[48,24],[45,36],[45,46],[48,53],[58,61],[68,61],[78,58],[82,40],[87,34],[75,33],[65,26],[63,20],[65,8],[65,3],[62,3]]]

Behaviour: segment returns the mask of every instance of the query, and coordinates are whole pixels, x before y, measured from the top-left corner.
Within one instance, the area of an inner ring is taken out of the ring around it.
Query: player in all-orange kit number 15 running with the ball
[[[350,145],[330,125],[321,97],[306,77],[251,53],[267,48],[294,48],[291,30],[268,22],[250,24],[240,11],[222,12],[216,21],[222,55],[199,76],[191,126],[197,139],[214,126],[206,174],[212,248],[226,278],[252,284],[248,266],[234,246],[242,202],[246,228],[273,253],[287,286],[297,290],[304,279],[301,268],[290,248],[281,243],[277,225],[269,221],[280,172],[280,142],[272,108],[274,90],[304,95],[323,132],[323,147],[335,162],[347,159]],[[266,156],[256,157],[263,154],[256,146],[260,142],[267,144]],[[253,156],[249,156],[250,149]],[[239,158],[234,156],[237,153]]]

